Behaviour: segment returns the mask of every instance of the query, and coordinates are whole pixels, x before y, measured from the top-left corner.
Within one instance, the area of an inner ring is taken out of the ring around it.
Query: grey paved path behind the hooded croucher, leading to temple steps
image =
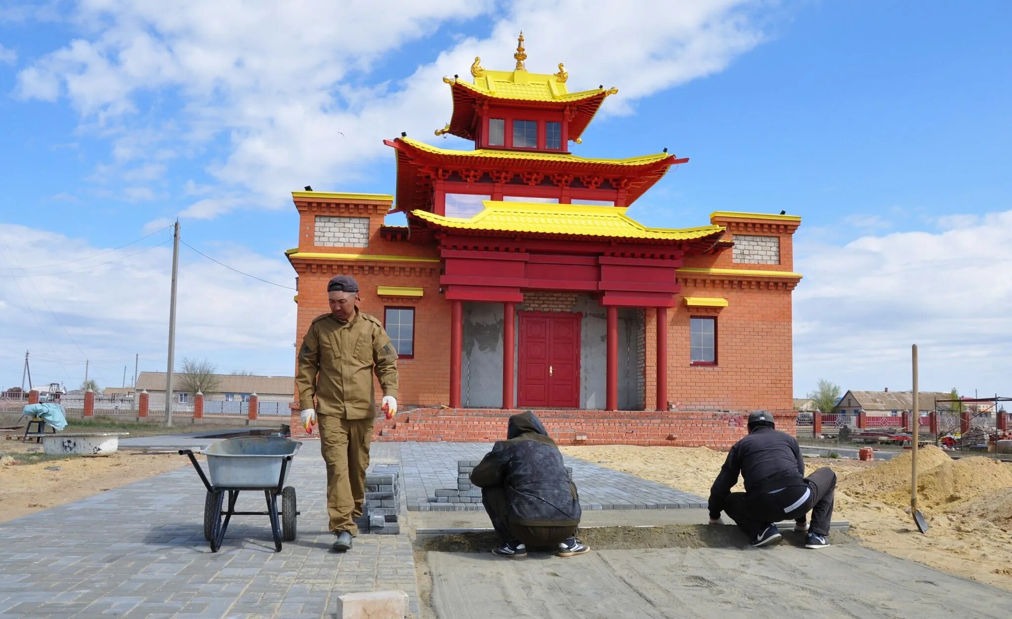
[[[432,503],[438,489],[456,488],[456,461],[480,460],[491,443],[380,443],[400,447],[410,511],[480,511],[480,503]],[[705,508],[706,501],[661,483],[565,456],[585,510]]]

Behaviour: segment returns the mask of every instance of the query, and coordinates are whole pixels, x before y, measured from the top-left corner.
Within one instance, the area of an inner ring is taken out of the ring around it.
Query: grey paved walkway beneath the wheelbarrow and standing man
[[[278,553],[266,516],[234,519],[212,553],[188,464],[0,524],[0,617],[320,617],[340,595],[387,589],[408,592],[417,613],[408,535],[359,535],[329,552],[319,445],[306,441],[294,460],[299,536]],[[375,451],[376,461],[394,455]],[[263,495],[240,495],[239,508],[265,509]]]

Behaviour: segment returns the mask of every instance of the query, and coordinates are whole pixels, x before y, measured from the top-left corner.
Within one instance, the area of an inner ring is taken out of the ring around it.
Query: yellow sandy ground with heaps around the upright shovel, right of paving
[[[571,456],[693,493],[709,487],[727,454],[678,447],[563,447]],[[889,462],[807,458],[812,472],[838,476],[835,520],[869,548],[1012,591],[1012,464],[983,457],[952,460],[936,447],[918,457],[919,507],[927,534],[917,532],[910,505],[911,454]]]

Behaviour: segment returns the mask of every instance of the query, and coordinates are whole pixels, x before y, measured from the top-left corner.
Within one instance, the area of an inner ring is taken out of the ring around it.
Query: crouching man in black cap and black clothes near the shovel
[[[732,493],[738,474],[745,492]],[[805,460],[797,440],[774,429],[773,416],[765,411],[749,415],[749,434],[738,441],[709,492],[709,523],[720,523],[724,511],[749,536],[753,546],[780,539],[776,522],[793,520],[794,530],[808,531],[806,548],[829,546],[836,473],[820,468],[805,477]],[[812,526],[806,514],[812,510]]]

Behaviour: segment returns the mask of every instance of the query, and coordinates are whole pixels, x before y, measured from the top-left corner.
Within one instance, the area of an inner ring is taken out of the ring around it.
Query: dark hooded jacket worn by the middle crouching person
[[[576,485],[563,454],[544,426],[527,411],[509,418],[506,440],[498,441],[471,473],[479,488],[505,485],[510,522],[528,527],[580,524]]]

